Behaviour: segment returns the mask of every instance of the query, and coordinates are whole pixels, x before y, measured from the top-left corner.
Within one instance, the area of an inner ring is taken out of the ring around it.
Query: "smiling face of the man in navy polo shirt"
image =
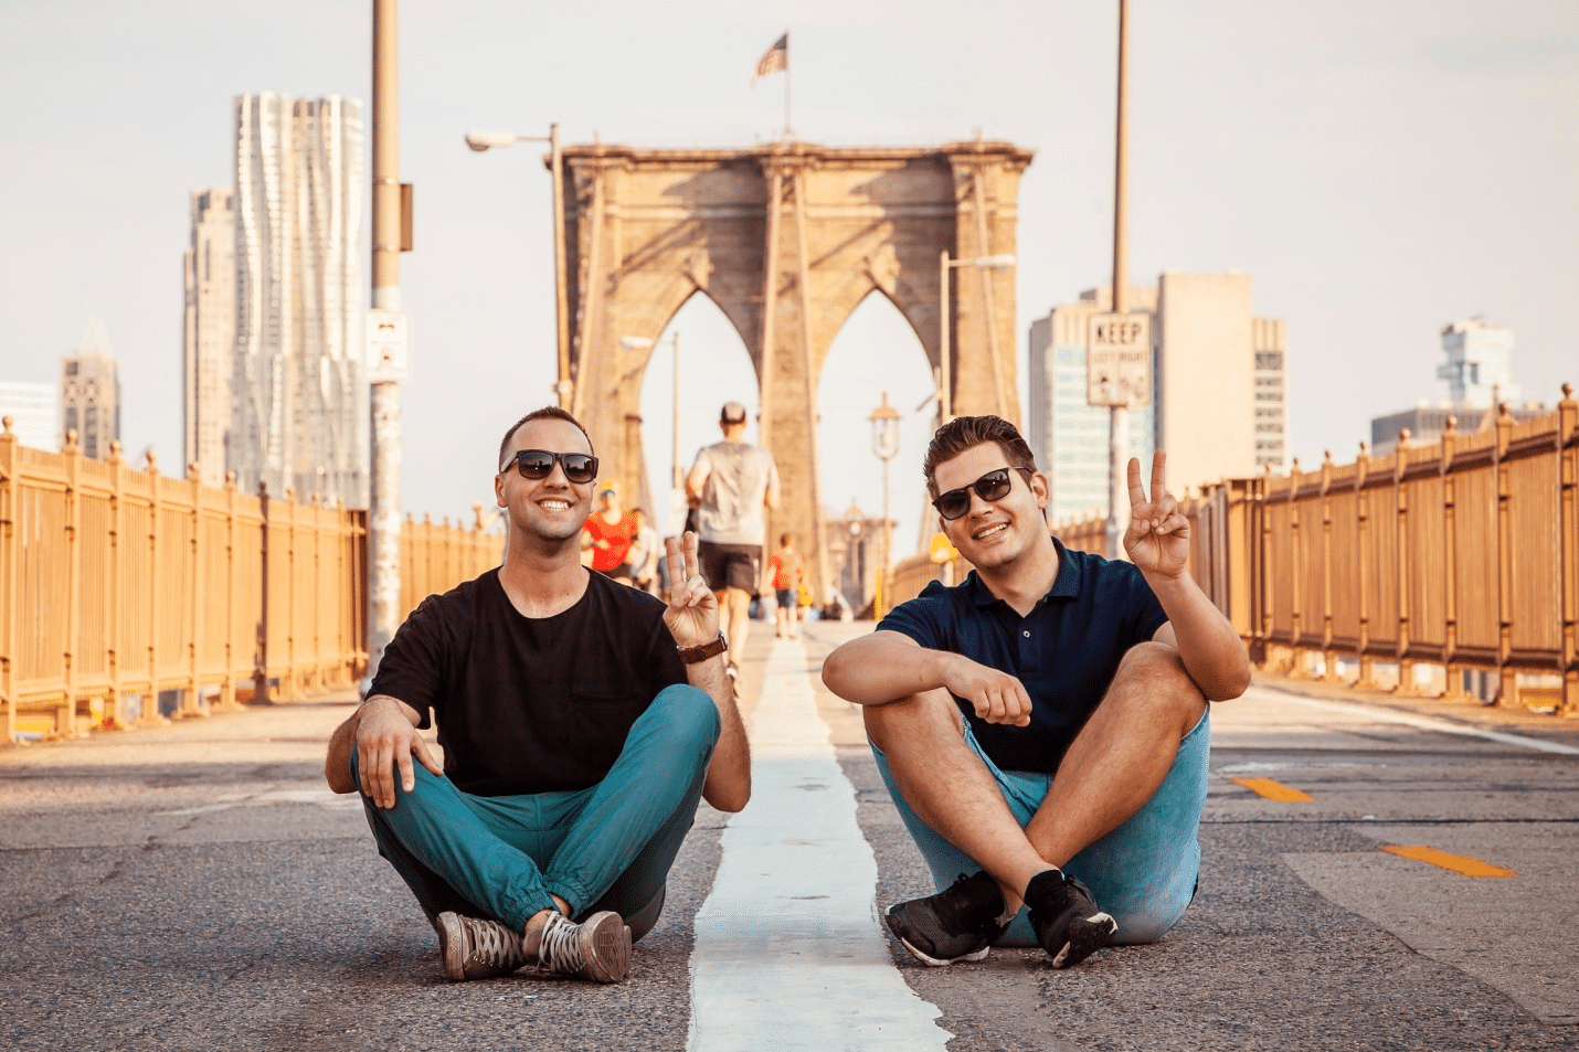
[[[990,471],[1009,466],[998,442],[981,442],[940,463],[933,471],[938,493],[974,483]],[[971,490],[971,510],[952,521],[940,517],[943,532],[960,554],[984,570],[1007,567],[1037,545],[1052,545],[1047,532],[1047,477],[1041,472],[1009,472],[1009,493],[984,501]]]

